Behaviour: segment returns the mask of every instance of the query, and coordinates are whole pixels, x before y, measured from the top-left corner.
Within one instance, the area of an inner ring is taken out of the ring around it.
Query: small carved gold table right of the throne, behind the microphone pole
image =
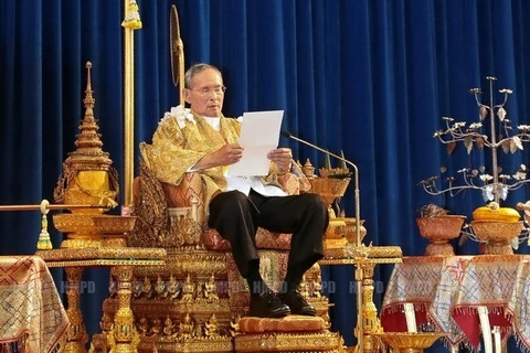
[[[354,279],[360,281],[362,290],[362,306],[360,313],[362,318],[362,333],[356,330],[362,352],[379,352],[380,344],[374,334],[383,332],[378,315],[378,309],[373,302],[373,270],[378,264],[399,264],[402,261],[403,253],[399,246],[357,246],[343,252],[344,255],[326,257],[319,261],[320,265],[353,265],[356,267]],[[359,309],[359,308],[357,308]],[[357,312],[359,318],[359,312]],[[359,319],[360,319],[359,318]],[[359,325],[359,323],[358,323]]]

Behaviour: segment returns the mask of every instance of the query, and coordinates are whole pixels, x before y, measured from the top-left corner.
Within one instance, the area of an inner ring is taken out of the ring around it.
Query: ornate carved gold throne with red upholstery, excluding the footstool
[[[288,193],[298,193],[293,174],[280,176]],[[142,334],[139,350],[174,350],[174,342],[202,344],[202,352],[232,352],[239,318],[248,306],[246,281],[239,275],[230,243],[205,226],[202,180],[189,173],[179,186],[159,182],[141,167],[135,179],[136,227],[128,245],[160,246],[168,250],[166,266],[139,267],[131,303]],[[285,275],[289,234],[259,229],[256,245],[263,278],[277,288]],[[320,296],[320,269],[315,265],[305,276],[301,291],[328,325],[328,300]],[[210,342],[210,347],[204,342]],[[311,347],[314,350],[314,347]]]

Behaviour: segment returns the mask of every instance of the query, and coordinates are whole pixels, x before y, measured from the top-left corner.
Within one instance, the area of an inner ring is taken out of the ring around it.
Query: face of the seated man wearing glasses
[[[193,76],[192,87],[184,89],[186,101],[199,115],[218,117],[223,109],[223,77],[213,68],[206,68]]]

